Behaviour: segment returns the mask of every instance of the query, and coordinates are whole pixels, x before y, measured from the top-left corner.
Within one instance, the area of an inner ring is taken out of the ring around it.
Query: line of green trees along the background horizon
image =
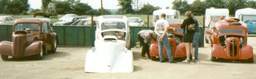
[[[78,14],[78,15],[101,15],[100,9],[93,9],[87,3],[80,3],[80,0],[42,0],[41,9],[44,10],[47,4],[55,3],[57,14]],[[114,14],[149,14],[153,11],[161,9],[149,3],[143,4],[138,8],[139,0],[118,0],[120,8]],[[134,10],[132,5],[137,3]],[[29,10],[28,0],[0,0],[0,14],[26,14]],[[180,11],[184,14],[186,11],[194,11],[197,16],[204,15],[207,8],[227,8],[231,15],[241,8],[256,8],[255,0],[195,0],[192,4],[188,4],[187,0],[174,0],[172,9]],[[104,9],[104,14],[112,14],[110,10]]]

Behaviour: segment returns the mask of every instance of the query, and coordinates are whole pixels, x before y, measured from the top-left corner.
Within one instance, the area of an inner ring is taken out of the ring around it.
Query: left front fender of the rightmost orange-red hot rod
[[[225,54],[226,53],[224,51],[224,48],[221,45],[218,45],[218,44],[212,45],[212,56],[213,57],[226,58]]]

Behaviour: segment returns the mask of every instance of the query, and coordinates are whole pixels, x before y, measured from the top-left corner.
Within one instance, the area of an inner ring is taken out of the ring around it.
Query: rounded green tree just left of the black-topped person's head
[[[177,11],[180,11],[180,14],[185,14],[186,11],[189,11],[190,5],[186,0],[174,0],[172,2],[173,6],[172,9],[175,9]]]

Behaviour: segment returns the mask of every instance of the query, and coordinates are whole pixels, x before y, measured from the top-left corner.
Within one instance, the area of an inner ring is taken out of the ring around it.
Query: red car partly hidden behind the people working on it
[[[177,20],[177,19],[176,19]],[[180,24],[177,23],[172,23],[173,21],[169,22],[169,27],[175,27],[177,28],[176,32],[173,33],[171,31],[169,31],[168,33],[172,33],[172,35],[169,35],[169,44],[170,47],[172,49],[172,57],[173,58],[177,58],[177,57],[186,57],[186,47],[185,47],[185,43],[184,42],[177,42],[177,41],[181,41],[182,37],[183,37],[183,30],[180,28]],[[180,20],[181,22],[181,20]],[[154,38],[156,39],[156,38]],[[177,44],[179,43],[179,44]],[[149,54],[151,56],[151,60],[155,60],[156,57],[159,57],[159,53],[158,53],[158,42],[156,40],[153,40],[150,43],[150,47],[149,47]],[[163,57],[165,59],[168,59],[168,56],[166,54],[166,49],[165,46],[163,46]]]

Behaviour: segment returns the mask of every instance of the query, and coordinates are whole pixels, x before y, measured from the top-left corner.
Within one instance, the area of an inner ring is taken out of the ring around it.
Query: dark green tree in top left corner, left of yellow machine
[[[28,0],[12,0],[7,4],[5,14],[21,14],[29,10]]]

